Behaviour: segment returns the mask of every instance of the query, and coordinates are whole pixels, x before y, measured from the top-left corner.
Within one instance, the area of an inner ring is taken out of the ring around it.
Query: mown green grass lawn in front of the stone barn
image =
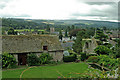
[[[88,70],[86,63],[67,63],[55,66],[37,66],[25,69],[5,70],[2,72],[3,78],[77,78]],[[98,71],[96,69],[89,69]]]

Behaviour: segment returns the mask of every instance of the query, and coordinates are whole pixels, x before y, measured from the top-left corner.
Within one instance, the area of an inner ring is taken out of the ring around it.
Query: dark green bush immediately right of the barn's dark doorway
[[[29,66],[36,66],[36,65],[39,65],[39,58],[37,57],[36,54],[29,54],[28,57],[27,57],[27,62],[28,62],[28,65]]]

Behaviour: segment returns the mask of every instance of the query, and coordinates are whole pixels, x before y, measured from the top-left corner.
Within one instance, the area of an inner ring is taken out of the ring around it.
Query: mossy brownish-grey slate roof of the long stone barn
[[[48,51],[63,50],[61,43],[59,42],[58,36],[55,35],[2,36],[2,52],[43,52],[43,46],[48,46]]]

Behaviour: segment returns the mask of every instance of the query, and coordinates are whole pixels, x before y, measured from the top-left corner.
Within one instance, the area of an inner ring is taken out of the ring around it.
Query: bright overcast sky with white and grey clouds
[[[0,17],[117,21],[118,1],[0,0]]]

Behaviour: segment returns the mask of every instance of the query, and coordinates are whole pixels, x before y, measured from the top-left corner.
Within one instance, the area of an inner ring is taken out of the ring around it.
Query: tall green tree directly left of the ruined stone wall
[[[80,54],[80,52],[82,52],[82,39],[84,38],[84,34],[85,34],[85,31],[79,31],[77,33],[77,37],[76,37],[76,40],[75,40],[75,43],[73,44],[73,50]]]

